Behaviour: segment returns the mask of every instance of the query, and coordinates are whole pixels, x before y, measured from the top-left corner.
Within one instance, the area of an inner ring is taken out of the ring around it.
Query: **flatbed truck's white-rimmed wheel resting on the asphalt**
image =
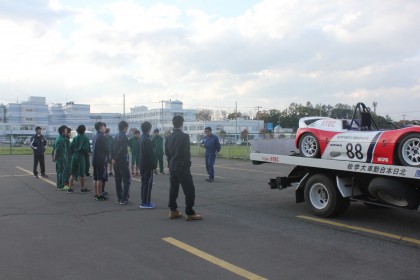
[[[315,174],[308,179],[305,201],[316,216],[324,218],[341,215],[350,205],[350,200],[341,196],[334,180],[324,174]]]

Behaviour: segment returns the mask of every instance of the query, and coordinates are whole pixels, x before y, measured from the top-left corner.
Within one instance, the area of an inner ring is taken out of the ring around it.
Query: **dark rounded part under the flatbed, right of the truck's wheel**
[[[370,182],[368,190],[379,201],[398,208],[413,210],[420,204],[416,188],[401,181],[377,177]]]

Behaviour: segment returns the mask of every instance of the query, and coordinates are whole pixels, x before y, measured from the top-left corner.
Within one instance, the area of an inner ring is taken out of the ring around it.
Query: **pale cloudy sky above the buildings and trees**
[[[420,119],[418,0],[0,0],[0,103],[242,112],[365,102]]]

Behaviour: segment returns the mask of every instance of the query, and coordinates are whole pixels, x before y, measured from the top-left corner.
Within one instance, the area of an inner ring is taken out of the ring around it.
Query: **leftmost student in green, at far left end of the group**
[[[58,128],[58,136],[54,142],[53,161],[55,161],[55,171],[57,173],[57,189],[64,189],[64,169],[67,160],[66,140],[67,127],[62,125]]]

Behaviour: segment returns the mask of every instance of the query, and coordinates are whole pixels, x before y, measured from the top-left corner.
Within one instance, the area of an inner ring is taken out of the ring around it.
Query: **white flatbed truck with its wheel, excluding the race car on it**
[[[317,216],[340,215],[350,201],[419,212],[420,167],[256,152],[250,159],[253,164],[295,166],[288,176],[270,178],[270,188],[284,189],[297,183],[296,203],[306,202]]]

